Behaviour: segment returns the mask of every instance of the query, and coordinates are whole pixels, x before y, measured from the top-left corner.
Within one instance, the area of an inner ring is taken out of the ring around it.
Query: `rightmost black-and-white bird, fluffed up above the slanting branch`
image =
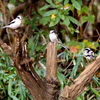
[[[94,58],[94,52],[90,48],[85,48],[83,55],[88,60],[93,60]]]

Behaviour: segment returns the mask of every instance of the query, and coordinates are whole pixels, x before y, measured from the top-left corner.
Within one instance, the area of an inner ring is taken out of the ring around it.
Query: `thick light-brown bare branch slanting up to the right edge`
[[[99,68],[100,56],[86,67],[79,77],[74,80],[73,84],[64,87],[60,100],[76,100],[76,97],[85,91],[86,85]]]

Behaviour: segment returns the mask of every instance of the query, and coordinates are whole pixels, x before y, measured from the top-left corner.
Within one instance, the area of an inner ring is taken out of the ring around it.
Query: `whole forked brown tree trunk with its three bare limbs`
[[[57,51],[56,43],[49,43],[47,46],[47,73],[45,80],[41,80],[32,67],[32,60],[28,56],[27,42],[20,38],[18,33],[14,36],[15,49],[0,40],[0,46],[14,62],[19,76],[30,91],[34,100],[58,100],[57,80]],[[90,82],[95,72],[100,68],[100,57],[89,64],[86,69],[73,80],[70,86],[65,86],[60,95],[60,100],[75,100]]]

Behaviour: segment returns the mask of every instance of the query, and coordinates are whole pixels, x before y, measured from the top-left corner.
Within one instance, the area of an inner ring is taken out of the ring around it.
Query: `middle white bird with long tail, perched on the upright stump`
[[[49,33],[49,39],[51,42],[56,42],[58,44],[60,44],[63,48],[65,48],[66,50],[70,50],[69,47],[63,45],[60,41],[58,41],[58,38],[57,38],[57,34],[56,34],[56,31],[55,30],[51,30],[50,33]]]

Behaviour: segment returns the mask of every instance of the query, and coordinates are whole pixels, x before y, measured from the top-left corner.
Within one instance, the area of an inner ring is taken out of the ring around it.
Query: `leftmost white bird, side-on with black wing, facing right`
[[[3,28],[11,28],[11,29],[17,29],[21,25],[21,16],[17,16],[14,20],[12,20],[8,25],[1,27]]]

